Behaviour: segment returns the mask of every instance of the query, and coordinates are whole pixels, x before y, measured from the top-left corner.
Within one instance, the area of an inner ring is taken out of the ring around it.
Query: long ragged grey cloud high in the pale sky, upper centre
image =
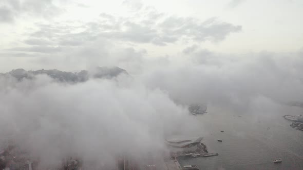
[[[115,17],[101,13],[99,22],[89,23],[89,29],[98,31],[100,36],[122,41],[151,43],[165,46],[181,38],[187,40],[217,42],[227,35],[241,31],[241,26],[220,22],[217,18],[201,21],[193,17],[165,17],[151,7],[132,17]]]

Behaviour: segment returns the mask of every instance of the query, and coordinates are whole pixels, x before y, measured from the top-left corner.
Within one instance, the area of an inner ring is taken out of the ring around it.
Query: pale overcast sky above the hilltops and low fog
[[[0,71],[127,69],[196,49],[293,53],[302,16],[301,0],[0,0]]]

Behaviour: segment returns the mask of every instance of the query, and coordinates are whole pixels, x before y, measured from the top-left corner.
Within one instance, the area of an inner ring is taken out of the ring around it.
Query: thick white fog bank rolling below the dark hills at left
[[[68,84],[37,75],[1,79],[0,135],[56,167],[68,156],[117,164],[117,156],[165,150],[164,139],[193,130],[186,108],[127,75]],[[159,153],[157,153],[159,154]]]

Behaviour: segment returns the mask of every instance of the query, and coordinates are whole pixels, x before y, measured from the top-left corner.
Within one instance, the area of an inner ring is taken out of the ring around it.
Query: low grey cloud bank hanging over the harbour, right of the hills
[[[187,56],[189,60],[178,58],[182,65],[175,61],[154,69],[144,77],[146,86],[167,91],[176,102],[202,101],[237,112],[254,112],[250,107],[260,98],[278,105],[303,101],[303,60],[298,52],[243,57],[196,50]]]

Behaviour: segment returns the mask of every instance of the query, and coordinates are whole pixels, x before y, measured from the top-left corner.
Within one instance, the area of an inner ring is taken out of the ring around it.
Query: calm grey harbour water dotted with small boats
[[[296,108],[292,112],[300,111]],[[209,111],[197,115],[202,143],[219,156],[178,160],[181,165],[198,165],[200,169],[303,169],[303,132],[290,126],[291,121],[282,117],[286,114]],[[272,163],[278,158],[281,163]]]

